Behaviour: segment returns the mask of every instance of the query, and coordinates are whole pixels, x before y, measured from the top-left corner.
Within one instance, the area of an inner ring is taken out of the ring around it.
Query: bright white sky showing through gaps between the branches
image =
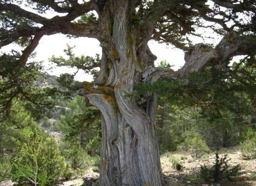
[[[24,5],[22,8],[32,11],[34,13],[35,10],[30,9],[28,7],[25,7]],[[45,16],[46,18],[52,18],[53,16],[56,16],[56,13],[53,13],[51,11],[41,15]],[[59,16],[64,16],[62,14],[58,14]],[[200,33],[200,31],[197,31]],[[214,40],[211,40],[211,43],[214,42],[215,44],[219,43],[220,39],[216,34]],[[203,40],[201,38],[192,38],[193,43],[201,43]],[[39,45],[35,49],[35,52],[37,53],[36,57],[33,59],[29,59],[30,61],[43,61],[43,65],[45,66],[46,72],[51,75],[59,76],[62,73],[74,73],[77,69],[75,68],[68,68],[68,67],[56,67],[51,65],[51,63],[48,62],[48,58],[51,58],[51,56],[64,56],[65,53],[63,52],[64,49],[67,48],[67,44],[70,46],[76,46],[73,49],[74,54],[76,56],[84,55],[84,56],[95,56],[96,54],[101,55],[101,47],[99,46],[99,41],[92,38],[67,38],[63,34],[55,34],[51,36],[43,36],[43,38],[40,40]],[[157,56],[157,60],[155,61],[155,65],[160,63],[162,60],[166,60],[170,65],[172,65],[174,70],[178,70],[180,67],[182,67],[185,63],[184,60],[184,52],[180,49],[174,49],[171,46],[167,46],[164,43],[157,43],[156,41],[150,40],[148,42],[148,45],[152,51],[153,54]],[[1,52],[9,52],[11,49],[18,49],[17,45],[7,45],[1,49]],[[239,57],[238,57],[239,58]],[[235,58],[237,60],[238,58]],[[53,67],[52,69],[49,69],[50,67]],[[92,81],[92,76],[90,74],[85,74],[82,70],[79,70],[79,72],[75,76],[75,80],[77,81]]]

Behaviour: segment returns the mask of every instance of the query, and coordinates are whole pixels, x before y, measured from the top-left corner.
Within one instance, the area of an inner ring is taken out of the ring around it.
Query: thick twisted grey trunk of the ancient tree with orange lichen
[[[99,25],[109,42],[101,43],[101,70],[95,84],[84,83],[83,94],[101,111],[101,186],[163,186],[155,133],[156,99],[126,96],[152,67],[155,56],[131,24],[127,0],[109,1],[100,10]]]

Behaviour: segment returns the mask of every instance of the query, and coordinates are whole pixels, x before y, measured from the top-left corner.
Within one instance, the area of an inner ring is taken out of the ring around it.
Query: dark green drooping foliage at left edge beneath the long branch
[[[34,84],[37,77],[42,75],[41,64],[28,63],[25,67],[20,67],[16,65],[20,54],[14,54],[0,56],[0,121],[9,116],[11,107],[17,100],[22,100],[24,107],[35,118],[38,118],[45,108],[51,107],[53,102],[46,99],[46,92]]]

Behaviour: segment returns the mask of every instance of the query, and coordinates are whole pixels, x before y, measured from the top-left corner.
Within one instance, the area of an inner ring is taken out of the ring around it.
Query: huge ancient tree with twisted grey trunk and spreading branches
[[[12,67],[26,66],[44,35],[99,40],[100,63],[84,58],[73,66],[100,67],[94,82],[83,82],[80,94],[101,111],[101,186],[164,185],[155,133],[156,95],[127,96],[136,83],[175,81],[207,66],[231,74],[233,56],[256,53],[254,0],[2,0],[0,10],[0,47],[14,42],[24,47],[21,54],[1,58],[2,78],[10,78]],[[47,11],[57,16],[46,18]],[[204,29],[223,36],[218,45],[192,45],[190,36],[203,37],[198,30]],[[151,39],[184,50],[185,65],[178,71],[154,67]]]

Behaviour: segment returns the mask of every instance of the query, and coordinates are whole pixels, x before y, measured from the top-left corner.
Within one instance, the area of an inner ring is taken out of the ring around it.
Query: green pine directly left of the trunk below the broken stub
[[[81,96],[76,96],[67,107],[72,112],[61,115],[58,124],[58,129],[64,134],[63,143],[80,146],[83,150],[88,150],[91,155],[99,155],[101,146],[99,110],[95,107],[87,107]]]

